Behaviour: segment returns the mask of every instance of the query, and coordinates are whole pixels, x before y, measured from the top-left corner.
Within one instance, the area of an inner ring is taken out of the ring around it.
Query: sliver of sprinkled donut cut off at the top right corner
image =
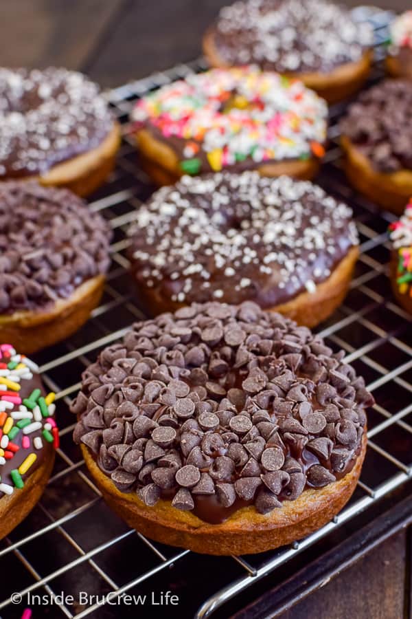
[[[412,79],[412,10],[396,17],[389,26],[385,64],[393,77]]]

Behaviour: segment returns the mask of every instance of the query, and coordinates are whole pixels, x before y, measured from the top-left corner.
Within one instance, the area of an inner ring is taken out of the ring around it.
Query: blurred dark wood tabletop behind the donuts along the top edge
[[[116,86],[201,54],[228,0],[1,0],[0,63],[64,65]],[[356,6],[356,0],[346,0]],[[365,4],[368,2],[365,1]],[[375,0],[404,10],[408,0]]]

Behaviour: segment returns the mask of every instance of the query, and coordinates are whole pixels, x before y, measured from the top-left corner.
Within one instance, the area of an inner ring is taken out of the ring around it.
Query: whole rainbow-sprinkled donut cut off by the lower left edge
[[[32,510],[49,479],[59,446],[54,398],[33,361],[0,344],[0,539]]]

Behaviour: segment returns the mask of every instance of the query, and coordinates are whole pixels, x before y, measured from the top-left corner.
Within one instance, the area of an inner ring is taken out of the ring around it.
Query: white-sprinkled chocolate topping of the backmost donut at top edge
[[[220,10],[214,28],[227,63],[278,72],[325,72],[358,61],[371,45],[369,24],[325,0],[246,0]]]

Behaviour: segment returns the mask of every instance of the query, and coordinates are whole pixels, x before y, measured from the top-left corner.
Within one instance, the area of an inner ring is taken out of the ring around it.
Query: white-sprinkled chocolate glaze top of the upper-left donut
[[[67,69],[0,68],[0,178],[41,175],[113,129],[98,85]]]

